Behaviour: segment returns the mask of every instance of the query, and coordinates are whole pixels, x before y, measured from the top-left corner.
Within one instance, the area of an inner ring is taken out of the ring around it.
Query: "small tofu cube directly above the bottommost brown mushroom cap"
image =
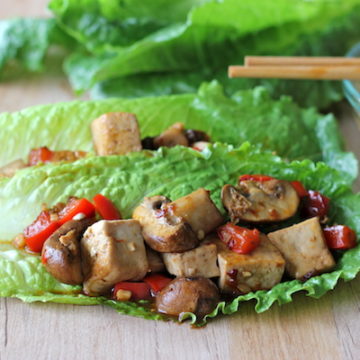
[[[212,278],[220,274],[215,244],[200,244],[183,253],[163,253],[162,257],[167,271],[175,276]]]

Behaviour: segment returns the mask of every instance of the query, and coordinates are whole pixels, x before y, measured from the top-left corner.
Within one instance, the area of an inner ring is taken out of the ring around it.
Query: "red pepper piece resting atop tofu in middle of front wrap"
[[[238,254],[249,254],[260,244],[260,232],[227,223],[217,229],[217,233],[227,247]]]

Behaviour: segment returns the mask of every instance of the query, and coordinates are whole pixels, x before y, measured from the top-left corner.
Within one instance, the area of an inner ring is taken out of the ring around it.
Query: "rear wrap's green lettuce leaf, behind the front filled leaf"
[[[25,158],[31,148],[39,146],[92,151],[89,124],[110,111],[135,113],[142,137],[157,135],[180,121],[187,128],[206,131],[213,141],[235,146],[251,141],[290,160],[324,160],[349,181],[357,174],[356,159],[342,151],[332,115],[301,109],[288,97],[274,101],[264,88],[227,97],[216,82],[203,84],[197,94],[75,101],[2,114],[0,166]]]

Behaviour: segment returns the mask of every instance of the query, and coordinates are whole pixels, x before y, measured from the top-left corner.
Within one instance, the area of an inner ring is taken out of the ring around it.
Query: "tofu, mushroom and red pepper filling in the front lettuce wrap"
[[[299,181],[242,175],[221,200],[228,222],[203,188],[175,201],[146,197],[127,220],[104,195],[72,197],[44,208],[14,243],[89,296],[200,318],[229,296],[328,272],[333,251],[356,246],[352,229],[328,224],[330,200]]]

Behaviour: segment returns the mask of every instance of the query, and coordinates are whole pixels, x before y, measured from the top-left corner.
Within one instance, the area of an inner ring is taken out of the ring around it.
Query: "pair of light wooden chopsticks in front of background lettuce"
[[[244,66],[229,66],[230,78],[360,80],[360,58],[246,56]]]

